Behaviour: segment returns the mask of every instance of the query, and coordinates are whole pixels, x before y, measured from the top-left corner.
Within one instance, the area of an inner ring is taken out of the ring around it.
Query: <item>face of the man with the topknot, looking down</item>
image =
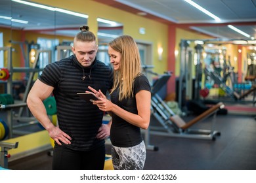
[[[83,67],[89,67],[95,61],[98,46],[96,42],[75,41],[72,51]]]

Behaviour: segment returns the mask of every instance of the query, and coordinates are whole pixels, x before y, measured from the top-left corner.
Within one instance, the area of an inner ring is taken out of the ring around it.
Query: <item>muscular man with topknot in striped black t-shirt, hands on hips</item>
[[[72,47],[74,55],[45,67],[28,95],[33,116],[54,139],[53,169],[104,169],[104,139],[110,127],[102,124],[103,112],[77,93],[88,86],[106,93],[113,85],[112,68],[96,59],[98,46],[89,27],[82,27]],[[53,93],[58,126],[54,126],[43,100]]]

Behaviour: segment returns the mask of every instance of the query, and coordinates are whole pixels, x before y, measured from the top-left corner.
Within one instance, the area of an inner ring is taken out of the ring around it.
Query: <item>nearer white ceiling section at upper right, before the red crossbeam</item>
[[[215,23],[213,18],[183,0],[116,0],[130,7],[149,12],[170,22]],[[255,0],[194,0],[195,3],[221,18],[221,22],[255,22]]]

